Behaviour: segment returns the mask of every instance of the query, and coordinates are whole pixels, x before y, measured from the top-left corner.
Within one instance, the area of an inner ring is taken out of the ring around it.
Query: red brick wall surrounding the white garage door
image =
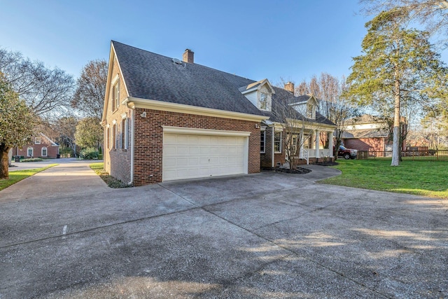
[[[144,111],[146,118],[141,118]],[[255,122],[139,108],[135,115],[134,186],[162,181],[162,125],[251,132],[248,173],[260,172],[260,129]]]

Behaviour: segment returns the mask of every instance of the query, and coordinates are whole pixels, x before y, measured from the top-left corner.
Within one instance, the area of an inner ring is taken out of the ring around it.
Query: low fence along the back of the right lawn
[[[402,151],[402,160],[448,161],[448,150]],[[358,160],[392,159],[392,151],[358,151]]]

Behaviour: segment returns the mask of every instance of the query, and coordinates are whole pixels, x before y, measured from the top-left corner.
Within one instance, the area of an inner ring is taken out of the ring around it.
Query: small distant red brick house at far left
[[[31,138],[31,143],[14,148],[13,155],[21,155],[24,158],[57,158],[59,144],[40,133]]]

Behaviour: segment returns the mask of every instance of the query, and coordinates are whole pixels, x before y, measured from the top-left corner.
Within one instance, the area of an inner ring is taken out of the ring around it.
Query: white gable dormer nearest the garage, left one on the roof
[[[267,79],[239,88],[239,91],[261,111],[271,111],[274,88]]]

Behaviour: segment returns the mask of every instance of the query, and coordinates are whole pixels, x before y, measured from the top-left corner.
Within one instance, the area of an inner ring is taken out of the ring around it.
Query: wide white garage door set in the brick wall
[[[163,126],[162,180],[248,173],[250,132]]]

